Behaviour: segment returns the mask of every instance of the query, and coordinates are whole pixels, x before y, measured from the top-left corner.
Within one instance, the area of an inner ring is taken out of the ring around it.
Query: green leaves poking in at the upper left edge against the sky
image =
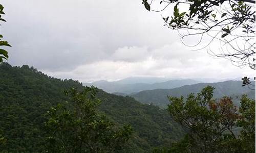
[[[0,20],[6,22],[6,20],[2,18],[2,15],[5,14],[3,10],[4,10],[4,7],[3,5],[0,4]],[[0,46],[11,47],[11,45],[7,41],[3,41],[2,38],[3,38],[3,35],[0,34]],[[9,58],[8,52],[5,49],[0,48],[0,63],[3,62],[3,59],[8,60],[8,58]]]

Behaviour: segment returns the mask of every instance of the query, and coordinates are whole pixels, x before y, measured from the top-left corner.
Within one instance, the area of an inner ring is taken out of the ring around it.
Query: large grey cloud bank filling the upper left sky
[[[170,31],[155,28],[162,26],[160,15],[148,14],[139,1],[3,3],[8,22],[2,28],[13,46],[14,65],[69,70],[109,58],[120,47],[158,47],[175,40]]]

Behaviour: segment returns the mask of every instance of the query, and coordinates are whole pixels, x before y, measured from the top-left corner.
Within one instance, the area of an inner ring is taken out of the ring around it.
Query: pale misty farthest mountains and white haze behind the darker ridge
[[[213,79],[213,78],[193,78],[193,79],[179,79],[179,78],[155,78],[155,77],[130,77],[119,81],[96,81],[93,83],[83,83],[84,86],[96,86],[108,93],[116,95],[129,95],[143,90],[153,89],[173,89],[184,85],[193,85],[197,83],[214,83],[227,80],[241,80],[241,78],[234,79]]]

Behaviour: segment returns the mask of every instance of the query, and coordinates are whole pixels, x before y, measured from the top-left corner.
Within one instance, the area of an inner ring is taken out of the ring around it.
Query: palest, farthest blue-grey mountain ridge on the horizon
[[[184,85],[199,83],[199,81],[186,79],[186,80],[170,80],[170,81],[153,83],[153,84],[147,84],[147,83],[126,84],[128,80],[130,79],[126,79],[124,81],[117,81],[117,82],[97,81],[94,83],[83,83],[83,85],[84,86],[93,85],[109,93],[118,92],[121,94],[131,94],[131,93],[136,93],[143,90],[171,89],[171,88],[181,87]]]

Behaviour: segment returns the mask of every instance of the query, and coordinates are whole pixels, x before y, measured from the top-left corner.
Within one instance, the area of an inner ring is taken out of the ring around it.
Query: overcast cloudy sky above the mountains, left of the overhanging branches
[[[2,0],[7,22],[1,33],[12,45],[8,62],[80,82],[254,75],[248,67],[210,56],[207,49],[186,47],[177,31],[163,26],[163,14],[148,12],[141,2]]]

